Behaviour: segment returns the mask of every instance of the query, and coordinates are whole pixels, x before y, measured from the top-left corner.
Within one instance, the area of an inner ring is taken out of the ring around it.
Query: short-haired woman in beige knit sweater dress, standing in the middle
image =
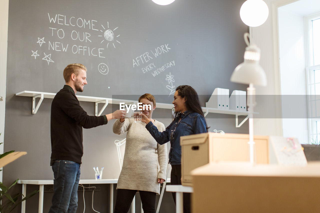
[[[139,103],[151,105],[150,110],[143,110],[142,113],[159,131],[164,131],[164,124],[152,119],[152,112],[156,108],[155,97],[146,93],[139,98]],[[127,213],[138,190],[143,211],[156,212],[156,194],[160,193],[160,184],[166,179],[167,147],[159,145],[145,126],[146,123],[135,123],[132,118],[118,119],[113,124],[115,134],[127,132],[114,213]]]

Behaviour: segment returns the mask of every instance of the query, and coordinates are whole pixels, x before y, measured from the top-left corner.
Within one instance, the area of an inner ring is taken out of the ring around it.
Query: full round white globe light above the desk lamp
[[[269,15],[268,5],[262,0],[247,0],[240,9],[241,20],[250,27],[263,24]]]

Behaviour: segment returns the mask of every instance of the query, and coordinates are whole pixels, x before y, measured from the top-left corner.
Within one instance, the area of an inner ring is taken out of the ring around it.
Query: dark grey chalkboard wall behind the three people
[[[246,90],[246,85],[230,82],[232,71],[243,61],[243,34],[248,31],[239,17],[243,2],[176,0],[161,6],[151,0],[10,0],[4,149],[28,154],[4,168],[4,182],[53,178],[49,166],[52,99],[44,99],[32,114],[32,99],[15,93],[58,92],[65,83],[62,71],[70,63],[88,69],[88,84],[77,95],[130,98],[151,93],[158,95],[158,102],[171,103],[175,88],[187,84],[205,106],[216,87],[230,93]],[[94,103],[80,104],[94,114]],[[108,105],[104,114],[117,107]],[[153,118],[167,126],[170,113],[156,109]],[[247,123],[236,128],[232,115],[210,113],[206,120],[211,131],[248,133]],[[93,178],[92,166],[105,167],[103,178],[119,176],[114,141],[125,135],[113,134],[112,124],[84,130],[81,179]],[[14,190],[20,191],[21,186]],[[45,193],[44,211],[51,196]],[[104,206],[101,212],[107,212],[104,202],[96,202]],[[37,199],[29,203],[27,212],[35,212]],[[86,212],[93,212],[89,207]]]

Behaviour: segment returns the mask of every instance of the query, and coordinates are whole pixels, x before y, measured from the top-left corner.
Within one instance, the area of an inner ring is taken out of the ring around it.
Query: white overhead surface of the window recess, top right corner
[[[300,0],[279,8],[301,16],[307,16],[320,12],[320,0]]]

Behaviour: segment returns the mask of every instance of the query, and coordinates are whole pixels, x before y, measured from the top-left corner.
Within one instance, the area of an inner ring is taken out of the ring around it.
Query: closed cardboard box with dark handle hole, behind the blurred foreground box
[[[209,162],[249,161],[249,134],[202,133],[180,137],[181,183],[192,186],[191,170]],[[269,137],[254,136],[257,163],[269,163]]]

